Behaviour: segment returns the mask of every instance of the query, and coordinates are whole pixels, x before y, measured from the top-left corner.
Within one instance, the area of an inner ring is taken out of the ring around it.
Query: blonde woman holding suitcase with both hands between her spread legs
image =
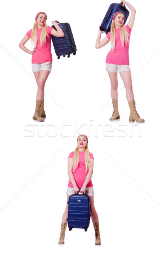
[[[88,137],[84,134],[77,138],[77,148],[68,156],[68,189],[67,202],[69,196],[74,193],[87,194],[91,198],[91,219],[95,230],[95,244],[101,244],[99,231],[99,218],[94,207],[94,189],[91,181],[93,174],[94,157],[88,150]],[[65,229],[68,218],[68,204],[63,214],[59,244],[64,244]]]

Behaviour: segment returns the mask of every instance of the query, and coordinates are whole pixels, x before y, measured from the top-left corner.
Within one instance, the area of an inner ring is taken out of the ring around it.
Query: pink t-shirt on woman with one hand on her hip
[[[48,36],[46,36],[46,44],[44,46],[40,46],[40,35],[42,29],[37,29],[37,51],[33,53],[31,63],[45,63],[45,62],[52,62],[52,55],[51,55],[51,30],[53,28],[50,26],[46,27],[46,31]],[[30,38],[32,34],[32,29],[30,29],[26,35]]]

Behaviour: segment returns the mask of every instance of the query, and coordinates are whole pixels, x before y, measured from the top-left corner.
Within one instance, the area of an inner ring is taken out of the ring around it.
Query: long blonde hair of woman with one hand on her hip
[[[42,27],[41,30],[41,35],[40,35],[40,46],[44,46],[46,44],[46,36],[48,36],[48,33],[46,31],[46,24]],[[49,36],[48,36],[49,37]],[[32,34],[31,34],[31,43],[34,44],[34,47],[37,46],[37,21],[35,20],[34,26],[32,29]]]

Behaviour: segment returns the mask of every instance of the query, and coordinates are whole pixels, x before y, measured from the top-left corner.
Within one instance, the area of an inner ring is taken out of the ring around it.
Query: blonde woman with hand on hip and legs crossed
[[[47,15],[45,12],[37,13],[33,29],[26,33],[19,44],[19,47],[23,49],[23,51],[32,55],[32,70],[38,87],[36,109],[33,119],[40,122],[46,117],[44,111],[44,87],[52,66],[51,35],[57,37],[64,36],[63,30],[58,26],[56,20],[52,21],[52,24],[57,30],[47,26],[46,20]],[[32,51],[25,47],[29,39],[31,39],[31,42],[34,44]]]

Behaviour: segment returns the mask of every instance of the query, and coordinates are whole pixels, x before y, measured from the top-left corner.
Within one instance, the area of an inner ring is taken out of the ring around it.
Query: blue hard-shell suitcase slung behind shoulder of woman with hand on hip
[[[53,42],[54,50],[56,52],[56,55],[58,56],[58,59],[60,56],[68,55],[68,58],[70,57],[71,53],[73,55],[76,54],[76,45],[74,42],[74,37],[71,32],[71,26],[69,23],[59,23],[57,22],[61,29],[63,29],[64,36],[63,37],[56,37],[54,35],[51,35],[51,40]],[[54,29],[55,27],[52,26]]]

